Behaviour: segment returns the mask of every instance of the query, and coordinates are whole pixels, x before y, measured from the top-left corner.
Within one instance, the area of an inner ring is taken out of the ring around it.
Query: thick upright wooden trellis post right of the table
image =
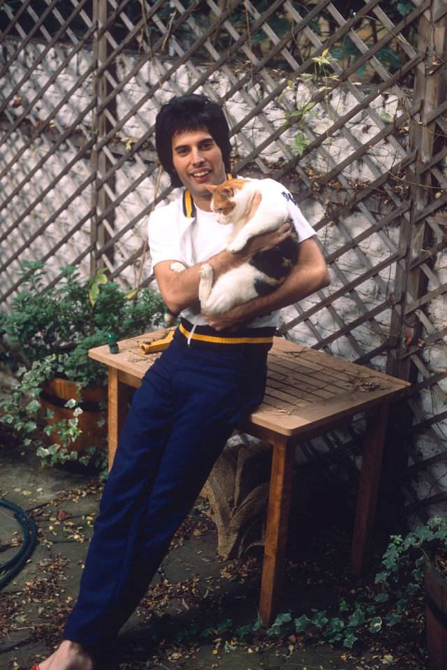
[[[402,379],[416,381],[417,370],[411,357],[403,356],[408,346],[417,344],[423,332],[421,320],[416,312],[406,314],[406,307],[427,292],[427,274],[416,260],[424,249],[433,244],[432,228],[427,216],[420,216],[427,204],[434,201],[437,181],[425,166],[439,151],[444,142],[444,133],[437,131],[437,114],[434,114],[446,99],[447,68],[447,13],[445,0],[432,0],[430,8],[420,15],[418,30],[418,52],[425,59],[416,68],[413,90],[413,107],[419,107],[411,120],[409,149],[416,149],[416,166],[407,173],[411,184],[411,217],[404,221],[400,230],[400,246],[405,258],[400,262],[396,275],[395,294],[402,296],[391,324],[391,332],[397,335],[397,355],[394,362],[388,361],[387,372]],[[436,166],[434,166],[436,167]],[[426,265],[434,265],[434,257]]]

